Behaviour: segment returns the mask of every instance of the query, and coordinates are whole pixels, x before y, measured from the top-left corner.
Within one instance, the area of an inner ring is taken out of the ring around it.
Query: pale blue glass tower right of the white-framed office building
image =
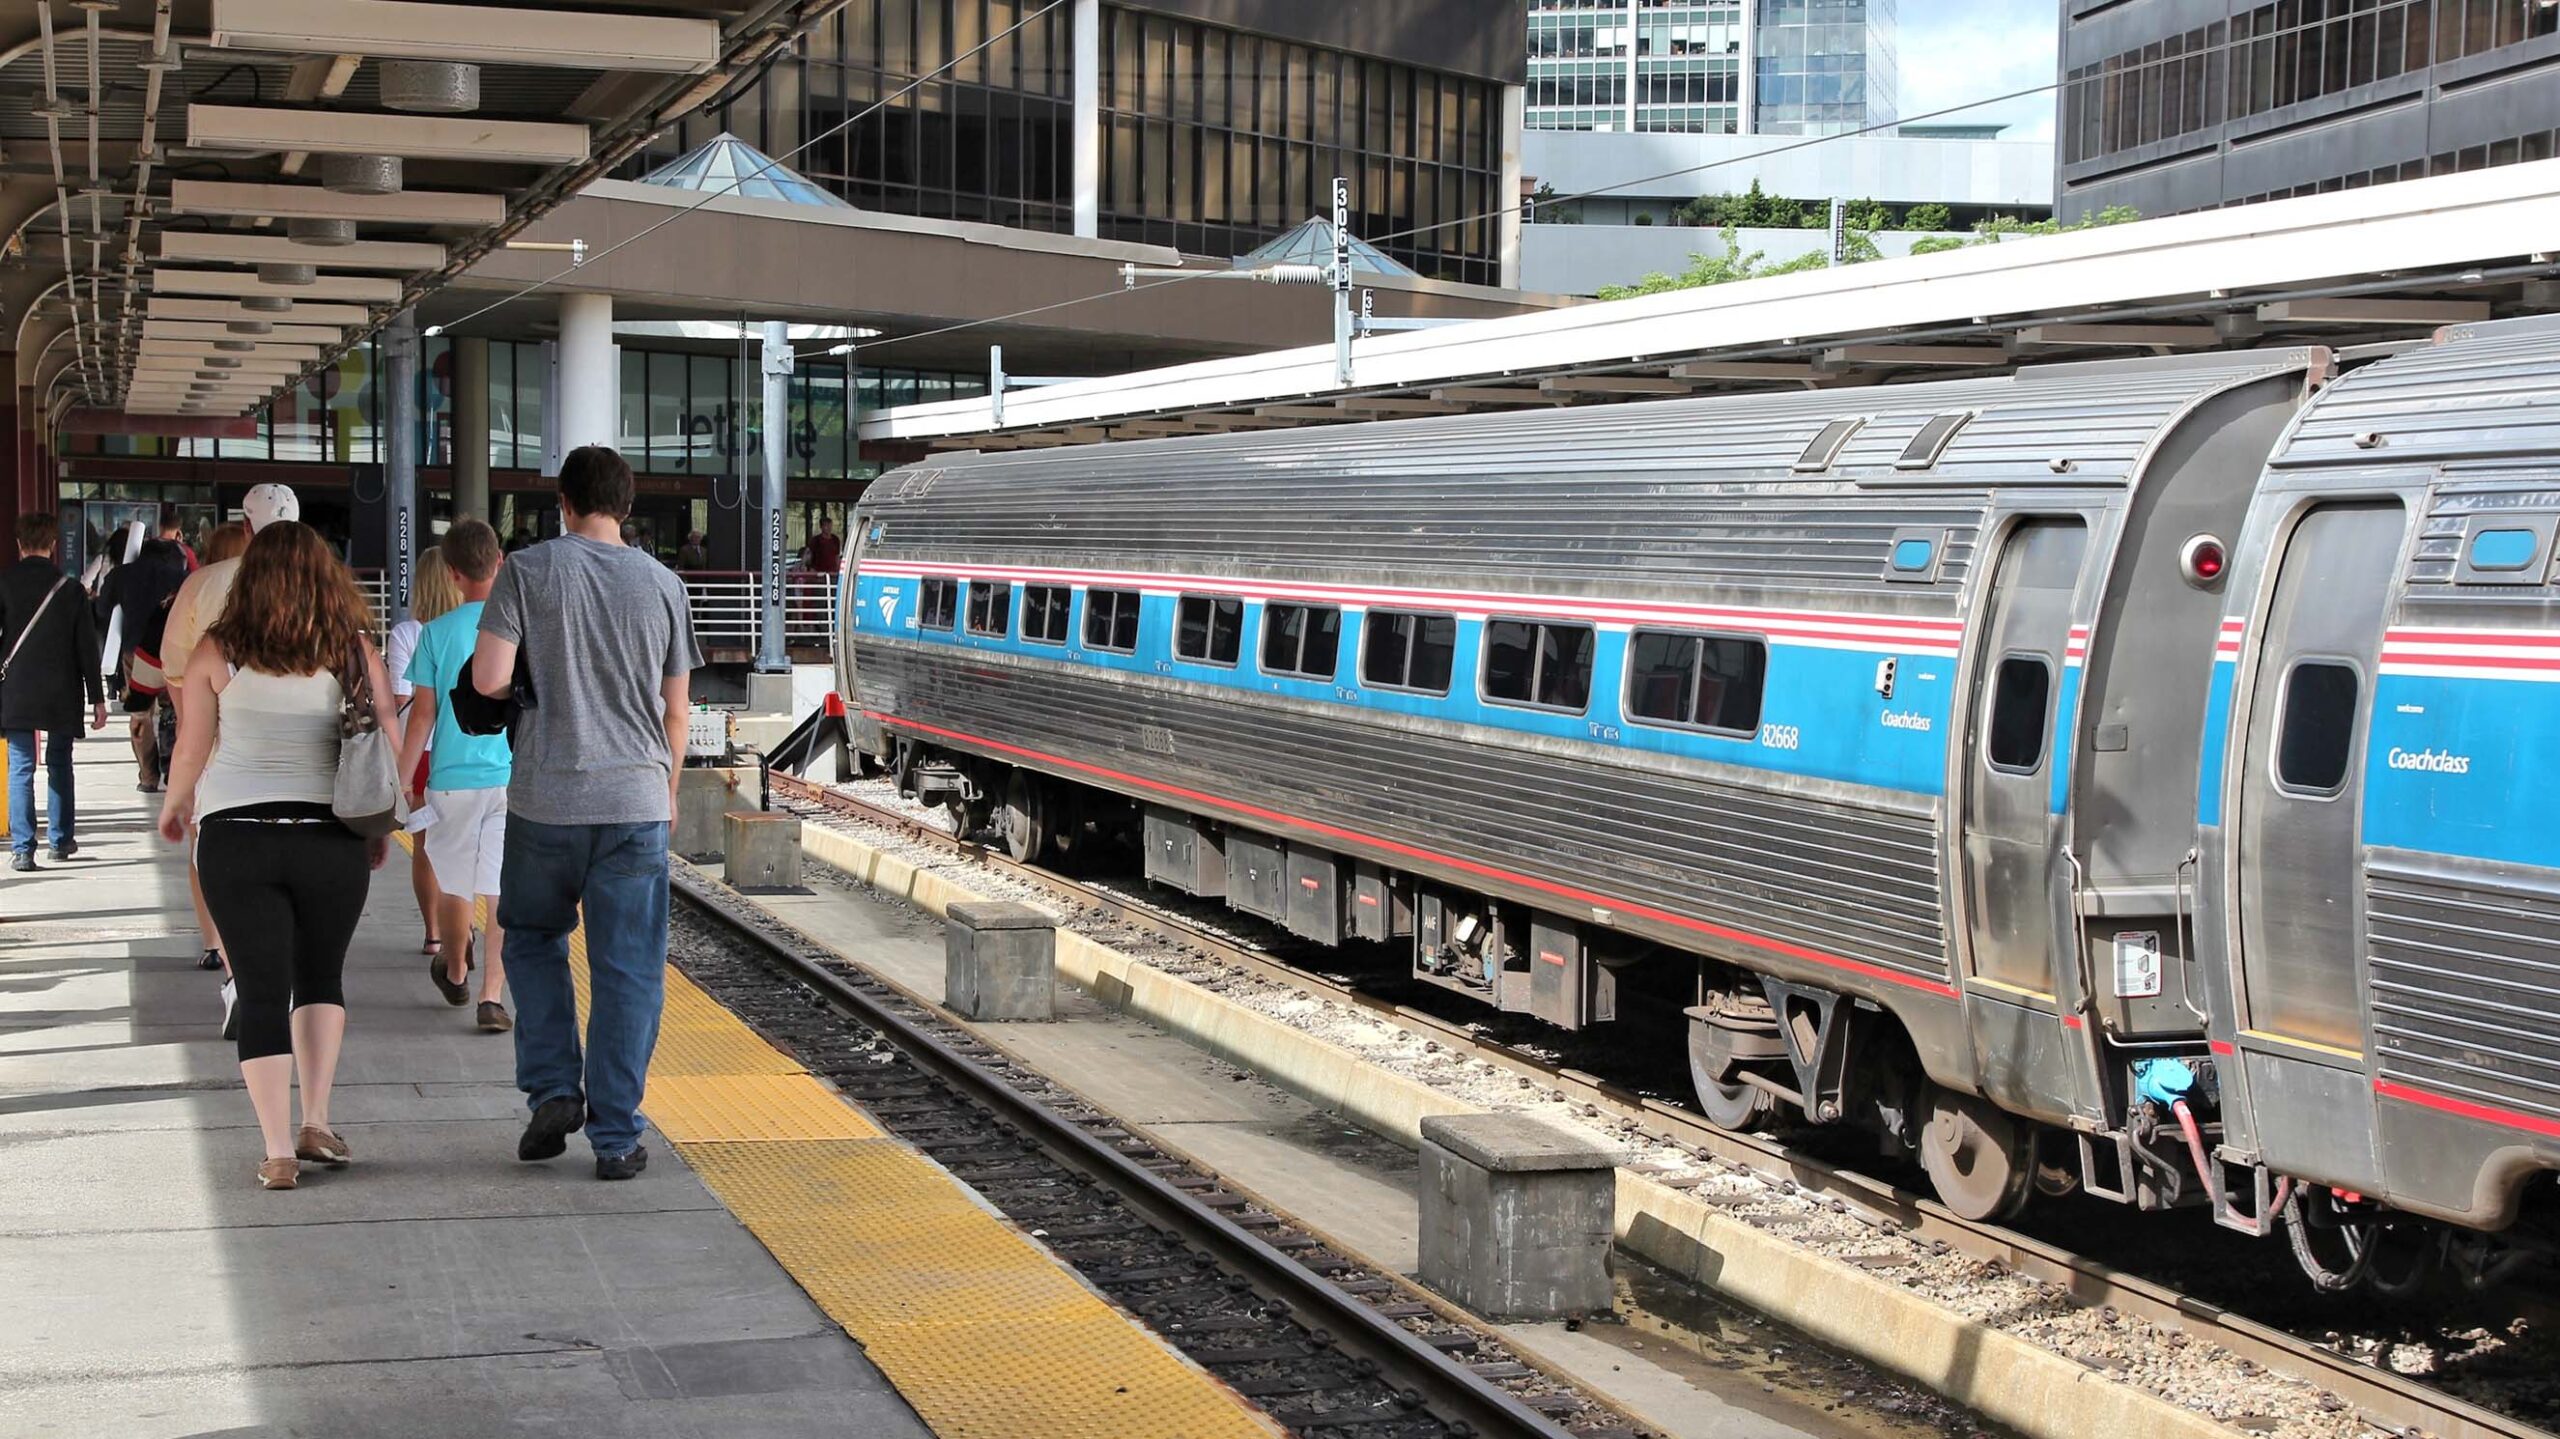
[[[1754,131],[1841,136],[1900,113],[1894,0],[1759,0],[1751,31]]]

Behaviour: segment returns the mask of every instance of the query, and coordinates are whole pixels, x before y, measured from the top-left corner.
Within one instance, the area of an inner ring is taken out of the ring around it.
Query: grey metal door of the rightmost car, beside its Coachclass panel
[[[2409,527],[2322,504],[2276,566],[2237,737],[2240,1063],[2268,1165],[2381,1178],[2363,1004],[2363,771],[2373,668]]]

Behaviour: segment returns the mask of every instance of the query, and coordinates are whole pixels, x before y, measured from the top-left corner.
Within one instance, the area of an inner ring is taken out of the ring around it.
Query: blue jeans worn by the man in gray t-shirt
[[[586,1098],[596,1155],[640,1145],[640,1093],[666,1009],[666,824],[535,824],[507,817],[497,922],[515,991],[515,1088],[525,1106]],[[586,1052],[568,935],[586,912]]]

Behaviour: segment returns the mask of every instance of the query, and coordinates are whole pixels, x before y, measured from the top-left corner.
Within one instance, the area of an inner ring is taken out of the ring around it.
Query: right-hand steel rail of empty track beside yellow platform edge
[[[1106,1183],[1134,1211],[1180,1234],[1213,1255],[1231,1273],[1244,1275],[1265,1298],[1288,1303],[1313,1331],[1331,1337],[1344,1352],[1370,1360],[1382,1375],[1421,1395],[1421,1406],[1449,1421],[1462,1434],[1477,1439],[1572,1439],[1572,1431],[1528,1408],[1503,1388],[1475,1375],[1464,1362],[1441,1355],[1403,1324],[1377,1314],[1359,1298],[1344,1293],[1324,1275],[1290,1260],[1254,1232],[1226,1219],[1216,1209],[1183,1193],[1178,1186],[1121,1155],[1108,1142],[1096,1139],[1083,1127],[1006,1083],[998,1073],[942,1042],[922,1024],[914,1024],[878,996],[863,993],[842,976],[801,955],[791,942],[748,924],[730,909],[730,899],[704,883],[691,865],[671,865],[671,883],[696,912],[719,922],[735,940],[760,950],[768,960],[814,988],[827,1004],[850,1019],[876,1029],[896,1045],[916,1068],[932,1073],[957,1093],[983,1104],[1006,1124],[1037,1139],[1044,1150]],[[745,904],[753,899],[740,896]],[[817,940],[786,932],[812,947]]]

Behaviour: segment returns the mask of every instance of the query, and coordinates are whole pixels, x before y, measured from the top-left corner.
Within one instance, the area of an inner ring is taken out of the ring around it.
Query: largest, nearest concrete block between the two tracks
[[[1531,1114],[1423,1119],[1418,1278],[1490,1319],[1608,1314],[1623,1157]]]

